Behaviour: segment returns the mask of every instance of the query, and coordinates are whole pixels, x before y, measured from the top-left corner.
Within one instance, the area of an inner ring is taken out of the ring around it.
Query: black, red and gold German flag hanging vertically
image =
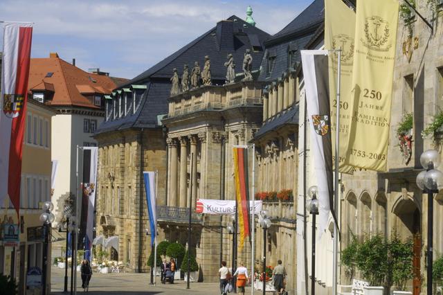
[[[240,242],[238,249],[243,248],[244,239],[251,235],[249,227],[249,190],[248,190],[248,151],[246,148],[234,147],[234,181],[237,198],[238,226]]]

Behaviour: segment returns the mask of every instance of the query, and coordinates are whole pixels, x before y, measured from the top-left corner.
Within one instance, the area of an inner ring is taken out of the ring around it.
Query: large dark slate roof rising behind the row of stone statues
[[[226,77],[224,62],[226,62],[228,53],[233,54],[236,63],[235,71],[240,73],[242,72],[244,52],[246,48],[250,48],[253,57],[253,70],[257,70],[262,62],[264,42],[269,37],[271,35],[251,26],[235,15],[224,21],[219,21],[217,26],[197,39],[137,75],[136,78],[122,84],[119,89],[130,87],[133,84],[147,85],[142,98],[145,100],[143,107],[140,107],[136,114],[116,120],[105,120],[98,127],[96,134],[130,127],[159,127],[158,116],[168,114],[172,69],[177,68],[180,77],[183,73],[183,64],[188,64],[191,70],[194,62],[198,61],[203,69],[204,57],[208,55],[213,84],[223,84]],[[253,49],[258,50],[254,51]]]

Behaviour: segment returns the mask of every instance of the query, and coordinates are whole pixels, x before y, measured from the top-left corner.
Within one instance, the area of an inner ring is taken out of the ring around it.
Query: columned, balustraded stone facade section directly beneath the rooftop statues
[[[169,208],[186,208],[190,194],[192,208],[200,198],[235,199],[233,145],[248,144],[260,127],[262,86],[261,82],[237,82],[201,87],[170,98],[168,118],[163,119],[168,128]],[[252,155],[250,169],[251,165]],[[230,265],[232,236],[224,230],[227,222],[228,218],[206,215],[192,226],[191,249],[196,247],[206,282],[218,281],[220,259]],[[168,240],[186,241],[186,224],[164,220],[159,225]],[[248,240],[238,252],[237,261],[250,269]]]

